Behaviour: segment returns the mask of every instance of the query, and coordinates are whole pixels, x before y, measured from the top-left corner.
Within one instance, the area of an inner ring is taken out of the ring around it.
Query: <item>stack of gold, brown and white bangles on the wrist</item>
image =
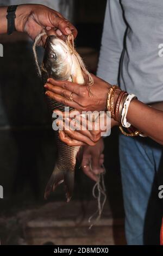
[[[118,94],[118,96],[115,102],[116,94]],[[137,99],[137,97],[134,94],[128,94],[119,87],[112,86],[109,88],[106,102],[106,110],[109,111],[110,117],[119,123],[119,128],[123,135],[130,137],[138,135],[143,136],[142,133],[137,131],[134,126],[131,126],[126,119],[129,105],[131,101],[135,99]],[[124,131],[123,127],[126,128],[128,132]]]

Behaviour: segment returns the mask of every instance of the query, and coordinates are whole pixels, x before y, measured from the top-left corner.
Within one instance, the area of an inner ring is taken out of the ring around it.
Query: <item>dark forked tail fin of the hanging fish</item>
[[[67,203],[70,202],[73,187],[74,187],[74,172],[69,170],[62,170],[55,166],[51,178],[48,181],[48,184],[45,189],[45,199],[48,198],[49,194],[55,190],[55,188],[65,181],[66,186],[66,198]]]

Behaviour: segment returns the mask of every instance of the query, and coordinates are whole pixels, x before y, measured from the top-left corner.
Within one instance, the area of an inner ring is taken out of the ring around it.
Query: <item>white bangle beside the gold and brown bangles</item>
[[[127,112],[130,105],[131,100],[136,99],[136,96],[134,94],[129,94],[126,98],[126,101],[124,102],[123,109],[122,109],[122,119],[121,123],[123,127],[129,128],[131,126],[130,123],[127,122]]]

